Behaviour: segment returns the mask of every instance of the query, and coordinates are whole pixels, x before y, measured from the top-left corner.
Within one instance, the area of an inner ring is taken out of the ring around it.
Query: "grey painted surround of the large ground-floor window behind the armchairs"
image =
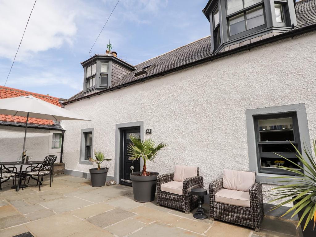
[[[283,106],[273,106],[257,109],[247,109],[246,110],[246,129],[247,129],[247,144],[248,144],[248,157],[249,157],[249,170],[256,172],[258,177],[258,182],[267,183],[267,184],[280,184],[277,183],[279,179],[270,179],[269,177],[275,176],[284,176],[278,174],[270,173],[259,173],[258,171],[258,159],[257,159],[257,142],[256,142],[256,131],[255,119],[256,115],[265,115],[265,114],[278,114],[278,113],[287,113],[287,112],[296,112],[297,123],[299,127],[299,136],[300,143],[306,145],[306,148],[311,150],[310,147],[310,138],[307,122],[307,113],[305,104],[293,104],[293,105],[283,105]],[[305,157],[305,154],[303,154]],[[305,157],[306,158],[306,157]],[[284,185],[285,183],[283,183]]]

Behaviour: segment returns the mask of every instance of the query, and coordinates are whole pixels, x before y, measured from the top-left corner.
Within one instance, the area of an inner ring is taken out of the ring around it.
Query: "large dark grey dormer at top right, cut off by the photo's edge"
[[[293,0],[210,0],[203,13],[210,21],[214,53],[287,32],[297,25]]]

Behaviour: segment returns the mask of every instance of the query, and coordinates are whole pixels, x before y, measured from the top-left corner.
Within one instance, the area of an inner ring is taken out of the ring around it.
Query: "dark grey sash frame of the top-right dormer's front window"
[[[243,6],[245,6],[245,0],[242,0],[242,4],[243,4]],[[259,3],[255,3],[255,4],[253,4],[253,5],[249,6],[249,7],[243,8],[243,9],[241,9],[239,11],[236,11],[236,12],[234,12],[232,14],[229,14],[229,15],[227,14],[227,6],[228,6],[227,0],[225,0],[225,14],[226,14],[226,25],[227,25],[228,40],[236,39],[236,38],[239,38],[241,36],[253,33],[255,31],[258,31],[258,30],[261,30],[261,29],[264,29],[264,28],[267,27],[267,18],[266,18],[266,14],[265,14],[264,0],[262,0]],[[263,16],[264,16],[264,24],[247,30],[246,12],[249,11],[249,10],[252,10],[254,8],[261,7],[261,6],[262,6]],[[236,15],[240,15],[240,14],[244,14],[245,29],[246,30],[242,31],[240,33],[237,33],[237,34],[230,35],[230,33],[229,33],[229,19],[234,17],[234,16],[236,16]]]

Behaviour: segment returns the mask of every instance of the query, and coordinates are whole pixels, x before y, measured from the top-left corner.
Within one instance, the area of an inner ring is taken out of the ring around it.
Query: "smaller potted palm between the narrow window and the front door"
[[[112,160],[105,159],[104,158],[105,155],[102,151],[94,150],[94,157],[95,157],[95,159],[90,157],[89,161],[92,164],[96,164],[98,167],[89,169],[90,176],[91,176],[91,185],[92,185],[92,187],[102,187],[105,185],[106,175],[107,175],[107,172],[109,171],[109,168],[107,168],[107,167],[101,168],[101,164],[103,161],[112,161]]]

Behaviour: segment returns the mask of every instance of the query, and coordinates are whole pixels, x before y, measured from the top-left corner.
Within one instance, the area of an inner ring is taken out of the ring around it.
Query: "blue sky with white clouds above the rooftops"
[[[117,0],[39,0],[6,86],[69,98],[82,90],[89,50]],[[0,0],[0,85],[8,75],[34,0]],[[207,0],[120,0],[91,55],[110,39],[138,64],[210,34]]]

